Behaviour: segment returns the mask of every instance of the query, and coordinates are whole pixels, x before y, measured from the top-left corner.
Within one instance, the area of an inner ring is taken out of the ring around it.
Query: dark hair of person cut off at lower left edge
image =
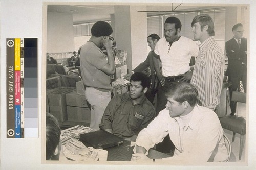
[[[51,160],[60,140],[60,128],[58,120],[46,113],[46,160]]]

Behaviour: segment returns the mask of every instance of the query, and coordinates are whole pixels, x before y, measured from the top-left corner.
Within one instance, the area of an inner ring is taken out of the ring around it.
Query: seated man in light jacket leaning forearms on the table
[[[214,111],[196,103],[196,87],[186,82],[174,82],[165,96],[166,108],[139,133],[131,160],[151,160],[146,156],[148,150],[169,135],[175,152],[173,157],[164,158],[168,161],[226,161],[228,153],[219,118]]]

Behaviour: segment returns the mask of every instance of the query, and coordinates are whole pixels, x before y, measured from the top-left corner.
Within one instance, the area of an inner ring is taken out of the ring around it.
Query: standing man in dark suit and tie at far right
[[[247,39],[243,38],[244,29],[241,23],[234,25],[232,32],[234,37],[225,43],[228,57],[226,76],[228,76],[228,80],[232,82],[232,85],[229,87],[230,115],[235,115],[237,103],[231,101],[232,92],[237,91],[240,81],[242,81],[244,91],[246,92]]]

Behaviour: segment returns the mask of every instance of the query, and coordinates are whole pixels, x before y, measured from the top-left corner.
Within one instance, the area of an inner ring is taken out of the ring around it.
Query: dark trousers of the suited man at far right
[[[230,95],[230,109],[232,113],[236,113],[237,110],[237,102],[232,101],[232,92],[237,91],[239,89],[240,81],[243,83],[244,92],[246,93],[246,66],[242,66],[241,73],[239,75],[228,76],[228,81],[232,82],[232,85],[229,87],[229,95]]]

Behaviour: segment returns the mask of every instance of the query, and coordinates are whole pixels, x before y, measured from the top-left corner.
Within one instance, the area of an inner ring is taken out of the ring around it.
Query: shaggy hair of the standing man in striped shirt
[[[195,23],[199,22],[200,26],[201,26],[201,31],[203,31],[204,26],[208,26],[207,32],[210,36],[214,36],[215,32],[214,32],[214,20],[208,15],[208,14],[200,14],[194,17],[192,23],[191,23],[191,27],[193,27],[193,25]]]

